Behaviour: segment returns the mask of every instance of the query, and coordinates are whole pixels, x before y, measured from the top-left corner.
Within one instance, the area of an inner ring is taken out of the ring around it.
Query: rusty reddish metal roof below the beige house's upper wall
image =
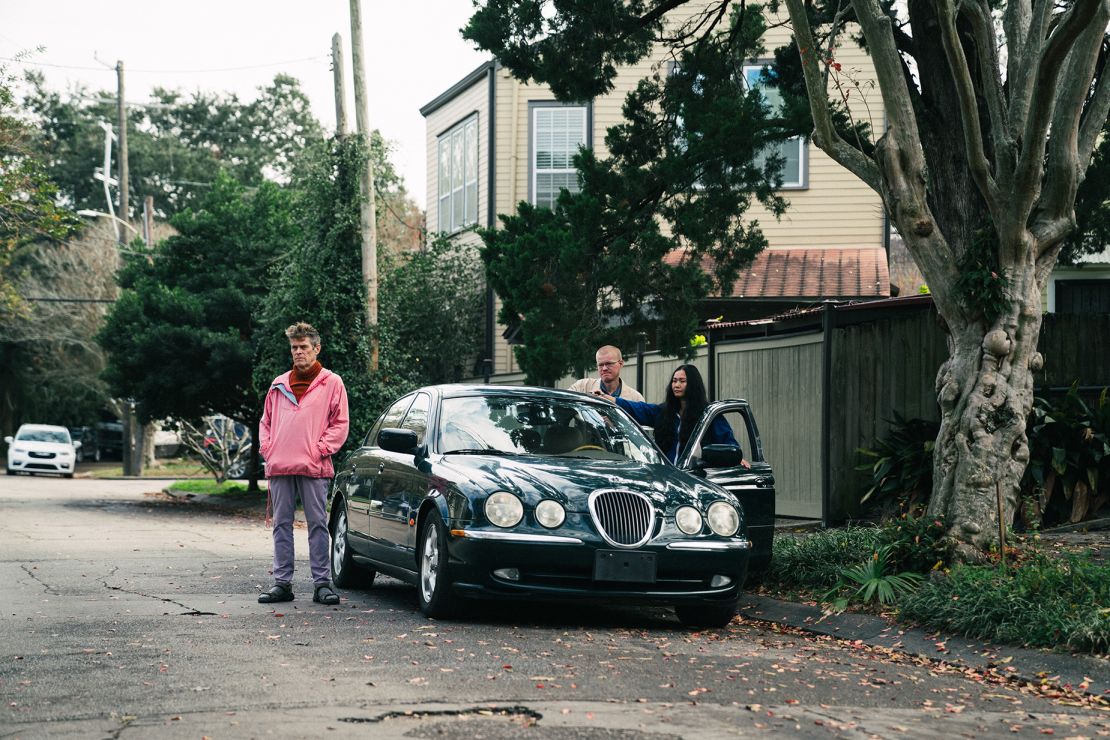
[[[668,264],[683,259],[667,255]],[[702,261],[713,270],[713,261]],[[741,270],[733,298],[854,298],[890,295],[887,254],[880,246],[764,250]]]

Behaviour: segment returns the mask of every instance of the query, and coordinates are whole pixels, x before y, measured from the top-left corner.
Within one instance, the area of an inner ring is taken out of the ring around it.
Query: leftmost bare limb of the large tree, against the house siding
[[[814,116],[814,143],[824,150],[836,162],[862,180],[871,190],[882,194],[882,183],[875,161],[844,141],[833,125],[833,114],[829,110],[828,92],[824,78],[817,68],[817,44],[803,0],[787,0],[790,11],[790,22],[794,26],[794,39],[801,58],[801,71],[806,78],[809,110]]]

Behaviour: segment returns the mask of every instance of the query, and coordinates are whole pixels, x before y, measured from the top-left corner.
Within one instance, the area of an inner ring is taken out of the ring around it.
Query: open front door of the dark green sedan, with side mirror
[[[728,426],[728,430],[723,425]],[[745,467],[736,454],[751,467]],[[748,402],[718,401],[709,404],[678,458],[684,470],[705,474],[706,479],[731,491],[744,507],[751,540],[749,578],[770,565],[775,537],[775,474],[764,458],[759,428]]]

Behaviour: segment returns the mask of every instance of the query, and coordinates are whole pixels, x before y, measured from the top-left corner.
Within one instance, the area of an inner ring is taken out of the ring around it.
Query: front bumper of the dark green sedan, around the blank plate
[[[735,601],[749,548],[744,537],[652,540],[617,550],[654,556],[654,579],[628,582],[595,579],[597,553],[615,551],[602,540],[471,529],[454,529],[447,538],[454,588],[462,596],[660,606]]]

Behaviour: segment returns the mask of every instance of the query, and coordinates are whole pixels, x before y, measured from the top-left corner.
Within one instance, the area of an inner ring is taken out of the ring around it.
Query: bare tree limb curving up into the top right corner
[[[1076,4],[1064,12],[1063,19],[1045,44],[1029,101],[1029,118],[1021,136],[1022,150],[1015,178],[1010,216],[1019,222],[1025,222],[1028,217],[1040,190],[1038,185],[1045,169],[1045,145],[1052,120],[1060,69],[1080,34],[1088,29],[1097,11],[1107,2],[1108,0],[1076,0]]]

